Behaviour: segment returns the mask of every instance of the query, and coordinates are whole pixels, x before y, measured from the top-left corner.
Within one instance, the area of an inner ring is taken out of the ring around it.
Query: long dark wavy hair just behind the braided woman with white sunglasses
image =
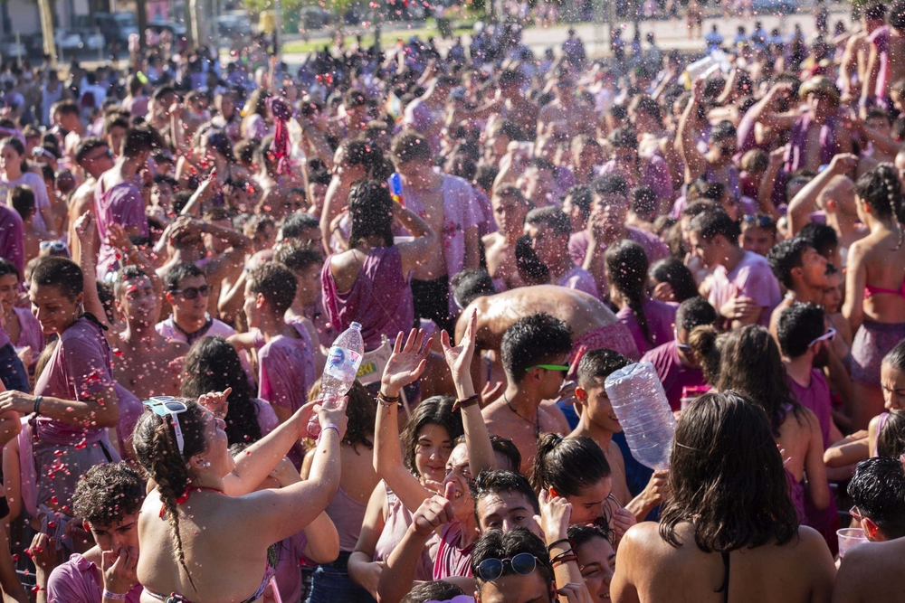
[[[202,337],[186,354],[179,393],[197,400],[211,391],[233,388],[226,411],[226,438],[230,444],[261,439],[261,425],[254,410],[254,391],[235,348],[223,337]]]

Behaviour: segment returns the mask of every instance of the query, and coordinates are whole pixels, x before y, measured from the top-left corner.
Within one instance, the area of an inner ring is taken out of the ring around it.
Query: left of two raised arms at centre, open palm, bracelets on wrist
[[[377,418],[374,427],[374,470],[399,497],[410,512],[414,512],[433,494],[405,468],[399,441],[399,392],[424,372],[427,354],[433,337],[424,341],[424,331],[412,329],[403,344],[403,333],[396,335],[393,354],[386,361],[380,380]]]

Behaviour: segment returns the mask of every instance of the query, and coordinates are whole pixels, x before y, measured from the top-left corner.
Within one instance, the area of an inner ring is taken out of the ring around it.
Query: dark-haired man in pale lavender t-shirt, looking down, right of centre
[[[728,328],[769,326],[780,301],[779,282],[767,259],[738,247],[738,224],[726,212],[703,212],[689,225],[691,250],[705,268],[713,268],[710,305]]]

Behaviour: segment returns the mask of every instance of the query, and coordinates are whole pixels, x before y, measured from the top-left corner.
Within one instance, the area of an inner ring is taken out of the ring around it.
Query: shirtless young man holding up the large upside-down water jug
[[[578,364],[578,383],[575,389],[575,406],[578,426],[569,438],[586,436],[593,439],[604,451],[606,461],[613,472],[612,495],[620,505],[624,505],[639,522],[662,502],[668,491],[669,471],[655,471],[643,492],[634,498],[625,481],[625,460],[619,446],[613,441],[613,434],[622,431],[613,405],[604,389],[604,382],[613,372],[622,369],[632,361],[612,350],[591,350]]]

